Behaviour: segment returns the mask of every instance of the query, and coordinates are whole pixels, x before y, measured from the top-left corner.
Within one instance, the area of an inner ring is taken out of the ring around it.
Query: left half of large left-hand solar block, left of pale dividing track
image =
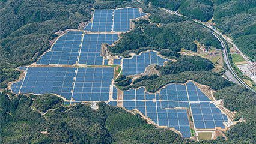
[[[14,93],[53,93],[71,99],[75,71],[77,68],[64,67],[29,67],[26,76],[11,85]]]

